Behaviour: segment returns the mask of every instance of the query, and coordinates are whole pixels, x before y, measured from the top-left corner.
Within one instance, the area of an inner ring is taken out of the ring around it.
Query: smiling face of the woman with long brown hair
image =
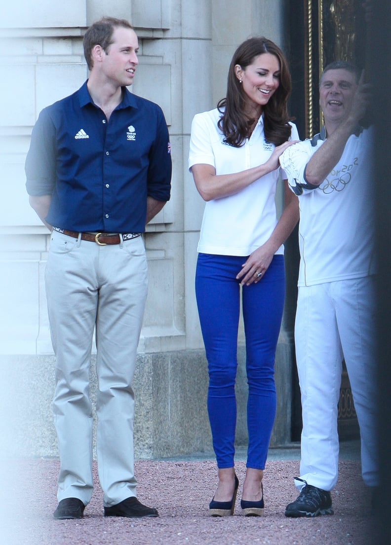
[[[280,62],[272,53],[262,53],[254,58],[244,69],[237,64],[235,74],[242,80],[249,112],[256,110],[261,114],[280,84]]]

